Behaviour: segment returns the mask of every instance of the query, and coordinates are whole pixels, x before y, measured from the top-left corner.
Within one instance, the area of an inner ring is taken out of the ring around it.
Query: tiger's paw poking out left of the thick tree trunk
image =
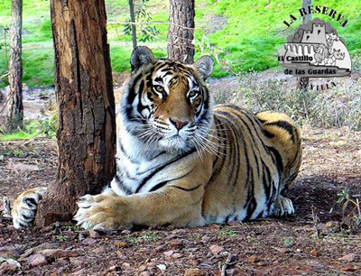
[[[11,212],[16,229],[32,226],[36,210],[38,209],[38,203],[45,191],[46,188],[44,187],[29,189],[16,198]]]

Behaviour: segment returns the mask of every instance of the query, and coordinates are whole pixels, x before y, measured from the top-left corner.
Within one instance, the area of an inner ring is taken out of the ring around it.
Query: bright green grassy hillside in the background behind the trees
[[[140,2],[140,1],[139,1]],[[147,10],[153,14],[153,21],[168,21],[168,1],[150,0]],[[210,46],[211,52],[218,52],[233,70],[255,69],[257,71],[276,67],[277,50],[286,37],[301,23],[299,18],[286,29],[282,23],[289,14],[299,17],[301,0],[252,1],[252,0],[199,0],[196,1],[196,47],[197,57],[202,44]],[[351,54],[360,53],[361,4],[353,0],[313,1],[313,5],[326,5],[343,14],[347,26],[342,28],[328,15],[316,14],[320,19],[332,23],[340,36],[345,38]],[[3,45],[4,29],[10,24],[11,0],[0,0],[0,45]],[[106,0],[108,22],[125,22],[128,17],[126,0]],[[168,26],[157,24],[160,31],[157,40],[146,42],[157,56],[166,54]],[[112,69],[122,72],[129,69],[129,55],[132,51],[131,37],[123,32],[123,25],[109,25],[108,39],[111,46]],[[141,43],[142,44],[142,43]],[[5,73],[7,51],[0,47],[0,76]],[[207,47],[206,47],[207,48]],[[207,51],[205,52],[207,53]],[[53,52],[49,1],[23,0],[23,79],[29,86],[52,84]],[[216,66],[213,77],[219,78],[227,72]],[[0,80],[0,87],[6,85]]]

